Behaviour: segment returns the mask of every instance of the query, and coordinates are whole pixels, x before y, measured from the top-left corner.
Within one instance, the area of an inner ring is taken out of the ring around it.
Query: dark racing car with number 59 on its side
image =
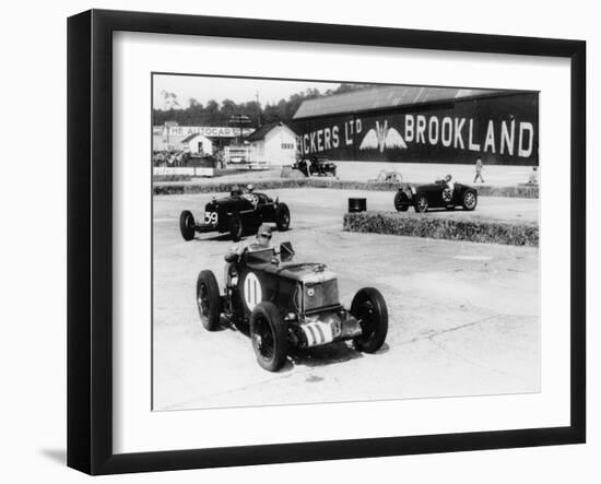
[[[229,233],[234,241],[244,234],[255,232],[262,223],[275,223],[278,231],[290,228],[290,210],[266,193],[233,190],[229,197],[211,200],[204,205],[204,220],[197,222],[192,212],[185,210],[179,215],[179,232],[184,240],[191,240],[195,234],[205,232]]]

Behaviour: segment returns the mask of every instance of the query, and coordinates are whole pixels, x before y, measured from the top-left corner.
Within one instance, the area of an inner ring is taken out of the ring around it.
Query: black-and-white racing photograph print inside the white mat
[[[538,91],[149,82],[153,411],[541,390]]]

